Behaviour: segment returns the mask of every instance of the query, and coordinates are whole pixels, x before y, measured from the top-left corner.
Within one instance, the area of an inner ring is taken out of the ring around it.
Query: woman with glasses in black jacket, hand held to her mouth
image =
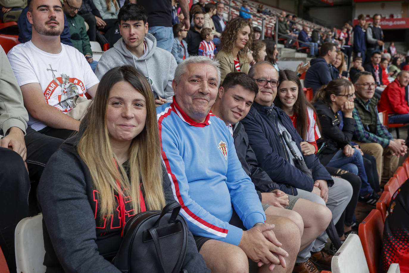
[[[351,143],[355,88],[351,81],[335,79],[317,91],[313,106],[321,123],[322,139],[317,141],[318,158],[323,165],[345,169],[362,180],[360,201],[375,204],[379,195],[368,183],[360,149]]]

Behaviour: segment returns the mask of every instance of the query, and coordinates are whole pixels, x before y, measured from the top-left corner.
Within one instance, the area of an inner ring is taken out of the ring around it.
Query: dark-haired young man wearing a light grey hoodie
[[[141,5],[121,7],[118,21],[122,38],[102,54],[95,74],[101,79],[111,68],[132,65],[151,83],[156,106],[159,106],[172,102],[172,80],[177,63],[171,53],[156,47],[156,39],[148,33],[146,20],[146,11]]]

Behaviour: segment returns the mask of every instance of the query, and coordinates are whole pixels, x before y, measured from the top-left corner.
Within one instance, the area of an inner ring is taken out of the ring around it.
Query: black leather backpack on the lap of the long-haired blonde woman
[[[179,273],[187,248],[188,228],[173,201],[162,211],[149,210],[131,217],[113,264],[126,273]],[[186,272],[186,271],[184,271]]]

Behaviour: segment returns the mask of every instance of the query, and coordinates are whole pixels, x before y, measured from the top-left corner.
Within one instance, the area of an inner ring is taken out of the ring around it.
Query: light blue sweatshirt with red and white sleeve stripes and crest
[[[175,99],[156,111],[162,158],[189,230],[238,245],[243,230],[229,224],[233,208],[247,229],[264,223],[265,214],[227,126],[211,113],[195,122]]]

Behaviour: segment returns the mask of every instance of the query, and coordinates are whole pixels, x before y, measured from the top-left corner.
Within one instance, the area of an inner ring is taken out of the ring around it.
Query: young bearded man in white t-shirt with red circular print
[[[64,28],[61,2],[31,0],[28,10],[31,41],[16,45],[7,56],[29,113],[28,126],[66,139],[79,130],[80,121],[66,115],[75,106],[74,97],[94,96],[99,81],[83,54],[60,42]],[[27,137],[34,133],[27,131]]]

